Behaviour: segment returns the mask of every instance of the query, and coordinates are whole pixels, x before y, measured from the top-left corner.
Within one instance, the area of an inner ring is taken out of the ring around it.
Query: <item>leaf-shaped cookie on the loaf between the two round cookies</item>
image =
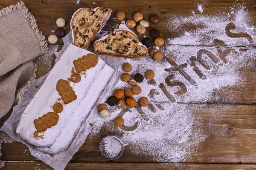
[[[58,80],[56,89],[59,92],[61,99],[64,101],[64,104],[69,104],[77,98],[75,91],[70,86],[70,83],[66,80]]]

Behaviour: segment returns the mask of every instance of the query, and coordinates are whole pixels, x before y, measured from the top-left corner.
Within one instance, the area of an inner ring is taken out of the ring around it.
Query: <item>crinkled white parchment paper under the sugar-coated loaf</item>
[[[103,37],[103,36],[104,35],[98,35],[96,39],[99,39],[100,37]],[[69,34],[67,34],[63,38],[63,41],[64,41],[64,46],[62,50],[60,52],[55,53],[57,57],[55,60],[56,62],[58,62],[58,60],[61,58],[61,55],[65,52],[69,44],[72,43],[71,32],[69,32]],[[90,51],[90,46],[88,47],[87,50]],[[80,56],[78,56],[78,58],[79,57]],[[115,86],[118,86],[116,82],[119,79],[120,74],[122,73],[119,71],[121,71],[122,69],[121,66],[122,66],[122,63],[124,63],[124,59],[118,58],[118,57],[108,57],[108,56],[100,56],[100,55],[99,57],[102,58],[102,60],[105,61],[113,69],[116,69],[116,72],[111,78],[111,81],[110,81],[111,84],[109,84],[104,90],[105,95],[101,96],[101,98],[99,99],[99,101],[102,102],[102,101],[106,101],[107,97],[113,94],[113,89],[115,89]],[[137,68],[137,64],[135,64],[133,61],[127,59],[125,60],[125,62],[131,63],[134,69]],[[0,130],[3,130],[15,141],[25,144],[29,148],[32,156],[35,156],[36,158],[40,159],[44,163],[53,167],[55,170],[63,170],[66,167],[68,161],[70,161],[72,156],[79,150],[79,147],[81,147],[81,145],[84,143],[85,139],[87,138],[87,135],[90,133],[92,127],[87,126],[88,122],[95,124],[100,117],[99,117],[99,114],[94,114],[95,112],[92,111],[92,113],[90,113],[86,121],[84,121],[84,123],[81,125],[81,128],[79,129],[79,132],[76,138],[74,139],[74,141],[72,142],[72,144],[70,145],[70,147],[67,150],[61,153],[58,153],[53,157],[47,153],[43,153],[39,151],[35,146],[32,146],[31,144],[28,144],[25,141],[23,141],[16,133],[17,124],[20,121],[21,115],[23,114],[24,110],[26,109],[30,101],[33,99],[32,97],[35,96],[35,94],[38,92],[40,87],[44,84],[44,81],[48,75],[49,75],[49,72],[47,73],[47,75],[44,75],[43,77],[38,78],[34,82],[31,82],[31,86],[26,88],[26,92],[24,92],[22,98],[20,98],[19,103],[17,104],[17,106],[13,108],[12,115],[4,123],[3,127],[1,127]],[[35,86],[38,86],[38,88],[36,88]],[[96,106],[93,108],[93,110],[96,110]]]

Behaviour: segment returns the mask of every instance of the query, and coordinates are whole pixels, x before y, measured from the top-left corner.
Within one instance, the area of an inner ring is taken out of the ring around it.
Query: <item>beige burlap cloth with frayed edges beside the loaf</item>
[[[0,118],[17,103],[29,82],[35,80],[32,59],[44,52],[45,36],[23,2],[0,10]],[[0,142],[3,141],[12,140],[1,131]]]

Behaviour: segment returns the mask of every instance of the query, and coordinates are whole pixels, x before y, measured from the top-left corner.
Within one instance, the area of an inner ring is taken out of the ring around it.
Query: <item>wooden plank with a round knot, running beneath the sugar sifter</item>
[[[202,126],[198,127],[207,134],[207,139],[189,156],[187,163],[256,163],[256,105],[221,105],[197,104],[196,119]],[[99,137],[88,137],[79,152],[99,149],[99,143],[106,135],[122,136],[119,131],[102,127]],[[35,161],[28,149],[20,143],[2,144],[3,161]],[[74,155],[73,158],[76,158]],[[108,162],[100,153],[84,156],[78,162]],[[132,145],[125,147],[125,152],[114,162],[155,162],[145,155],[134,156]]]

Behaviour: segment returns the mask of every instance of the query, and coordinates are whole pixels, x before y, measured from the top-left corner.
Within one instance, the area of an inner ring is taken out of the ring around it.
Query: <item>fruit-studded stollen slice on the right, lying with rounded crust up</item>
[[[147,55],[147,48],[128,30],[118,30],[97,40],[93,50],[99,54],[125,58],[145,58]]]

